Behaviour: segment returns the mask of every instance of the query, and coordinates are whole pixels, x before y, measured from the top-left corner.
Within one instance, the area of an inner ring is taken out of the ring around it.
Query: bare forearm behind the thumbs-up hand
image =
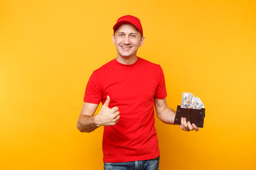
[[[77,127],[80,132],[92,132],[100,126],[95,123],[95,115],[80,115]]]

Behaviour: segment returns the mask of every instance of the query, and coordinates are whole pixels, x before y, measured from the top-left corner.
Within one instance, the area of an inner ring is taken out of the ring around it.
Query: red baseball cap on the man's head
[[[139,18],[135,16],[128,15],[118,18],[117,23],[114,24],[113,30],[117,30],[117,28],[124,23],[132,24],[132,26],[136,27],[143,36],[142,23],[140,23]]]

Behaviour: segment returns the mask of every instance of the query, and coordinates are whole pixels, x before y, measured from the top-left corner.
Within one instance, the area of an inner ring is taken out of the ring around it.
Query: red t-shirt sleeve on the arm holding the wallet
[[[165,80],[164,80],[164,72],[163,72],[163,69],[161,69],[161,67],[160,67],[159,84],[156,88],[155,98],[164,99],[164,98],[166,98],[166,96],[167,96],[167,92],[166,92],[166,84],[165,84]]]

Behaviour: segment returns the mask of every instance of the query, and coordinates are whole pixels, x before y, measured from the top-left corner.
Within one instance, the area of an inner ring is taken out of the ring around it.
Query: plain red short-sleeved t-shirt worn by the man
[[[103,162],[131,162],[159,157],[154,123],[154,98],[166,98],[164,72],[159,64],[138,57],[126,65],[112,60],[95,70],[86,86],[84,101],[117,106],[116,125],[105,126]]]

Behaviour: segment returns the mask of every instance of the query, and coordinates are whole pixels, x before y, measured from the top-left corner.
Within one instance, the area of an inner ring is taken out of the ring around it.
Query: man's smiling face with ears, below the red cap
[[[123,24],[112,35],[117,48],[117,57],[137,57],[137,50],[142,47],[145,40],[137,28],[130,24]]]

